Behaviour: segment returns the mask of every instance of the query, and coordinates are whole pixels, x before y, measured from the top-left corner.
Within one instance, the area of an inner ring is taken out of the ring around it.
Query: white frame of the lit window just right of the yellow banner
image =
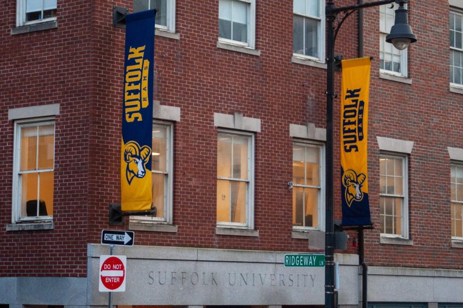
[[[380,152],[380,159],[383,158],[390,158],[390,159],[402,159],[402,175],[403,175],[403,195],[390,195],[390,194],[379,194],[380,199],[381,197],[393,197],[393,198],[402,198],[402,235],[396,235],[396,234],[388,234],[388,233],[382,233],[381,232],[381,237],[384,238],[402,238],[402,239],[408,239],[408,156],[403,154],[403,153],[396,153],[396,152],[385,152],[381,151]],[[387,183],[386,183],[387,185]],[[381,201],[380,201],[381,202]],[[381,219],[381,214],[380,213],[380,219]]]

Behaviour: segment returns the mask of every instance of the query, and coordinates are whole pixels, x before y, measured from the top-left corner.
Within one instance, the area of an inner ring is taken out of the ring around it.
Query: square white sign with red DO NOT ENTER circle
[[[100,256],[100,292],[126,291],[126,256]]]

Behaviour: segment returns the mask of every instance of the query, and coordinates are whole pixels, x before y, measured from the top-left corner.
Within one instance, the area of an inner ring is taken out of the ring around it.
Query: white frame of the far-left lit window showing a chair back
[[[23,127],[37,126],[37,125],[50,125],[55,126],[54,137],[56,138],[56,121],[54,117],[47,118],[32,118],[27,120],[16,120],[14,121],[14,148],[13,148],[13,187],[12,187],[12,211],[11,211],[11,222],[33,222],[33,221],[49,221],[53,219],[52,215],[48,216],[37,216],[37,217],[27,217],[21,216],[21,197],[22,197],[22,187],[21,187],[21,177],[20,174],[25,174],[29,172],[20,171],[20,161],[21,161],[21,129]],[[55,171],[55,147],[56,142],[53,146],[53,160],[54,167],[52,169],[41,169],[41,172],[46,171]],[[55,189],[55,187],[53,187]]]

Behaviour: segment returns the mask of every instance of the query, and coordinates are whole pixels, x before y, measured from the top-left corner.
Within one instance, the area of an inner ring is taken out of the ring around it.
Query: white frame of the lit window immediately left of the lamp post
[[[293,140],[293,149],[294,145],[301,146],[312,146],[319,149],[319,180],[320,187],[313,185],[302,185],[293,183],[293,187],[304,187],[304,188],[319,188],[318,190],[318,227],[308,227],[308,226],[295,226],[293,225],[293,230],[320,230],[325,231],[325,143],[316,142],[311,140]],[[294,197],[293,197],[294,198]]]

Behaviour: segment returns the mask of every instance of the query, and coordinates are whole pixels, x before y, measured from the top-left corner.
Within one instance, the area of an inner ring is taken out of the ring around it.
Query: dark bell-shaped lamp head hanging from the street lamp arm
[[[408,11],[404,8],[407,1],[397,1],[399,8],[396,10],[396,21],[386,36],[386,42],[392,43],[399,50],[407,48],[416,42],[416,35],[412,33],[412,27],[408,25]]]

